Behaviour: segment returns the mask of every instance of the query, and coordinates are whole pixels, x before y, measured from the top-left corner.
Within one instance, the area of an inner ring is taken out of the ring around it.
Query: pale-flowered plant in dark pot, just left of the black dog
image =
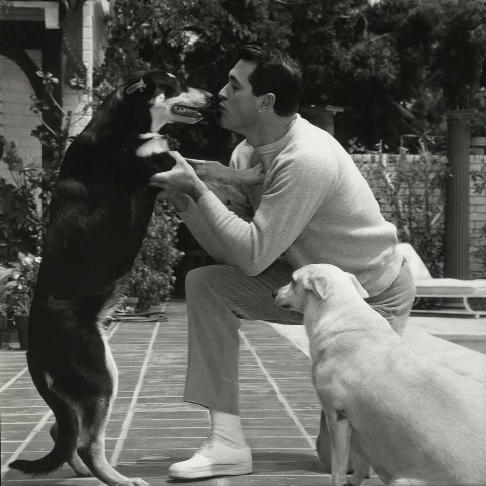
[[[19,252],[18,259],[10,262],[12,266],[11,282],[8,282],[7,305],[14,313],[15,327],[19,337],[20,349],[27,349],[27,326],[30,305],[34,294],[37,274],[41,266],[41,257]]]

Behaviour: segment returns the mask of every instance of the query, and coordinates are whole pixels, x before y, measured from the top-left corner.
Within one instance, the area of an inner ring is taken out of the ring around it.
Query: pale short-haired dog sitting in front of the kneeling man
[[[274,292],[302,312],[314,386],[331,440],[332,486],[353,486],[371,465],[390,486],[486,485],[486,420],[453,383],[415,354],[364,300],[354,275],[307,265]]]

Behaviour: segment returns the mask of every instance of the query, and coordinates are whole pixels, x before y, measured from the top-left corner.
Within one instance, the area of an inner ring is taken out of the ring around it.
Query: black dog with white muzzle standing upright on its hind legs
[[[69,146],[54,189],[41,269],[29,319],[27,360],[37,390],[56,417],[52,451],[11,468],[45,474],[65,461],[78,475],[110,486],[145,486],[107,462],[104,433],[118,373],[104,322],[120,303],[158,190],[170,170],[163,125],[196,123],[211,95],[161,71],[139,72],[105,100]],[[195,164],[206,179],[258,183],[258,170]]]

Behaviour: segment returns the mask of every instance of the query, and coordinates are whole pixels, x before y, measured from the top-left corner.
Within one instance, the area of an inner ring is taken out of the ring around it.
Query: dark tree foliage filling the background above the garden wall
[[[112,85],[161,68],[217,93],[238,46],[255,43],[301,62],[303,104],[345,108],[341,142],[396,147],[403,134],[443,135],[448,109],[484,110],[483,0],[117,0],[114,9],[102,70]],[[175,131],[188,155],[227,155],[235,142],[211,116],[184,133]]]

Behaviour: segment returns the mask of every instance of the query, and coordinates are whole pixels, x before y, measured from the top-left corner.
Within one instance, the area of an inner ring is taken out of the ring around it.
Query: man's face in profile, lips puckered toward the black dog
[[[223,128],[245,135],[248,129],[254,127],[260,98],[252,93],[248,76],[255,67],[254,62],[240,60],[230,71],[228,83],[219,92],[219,123]]]

